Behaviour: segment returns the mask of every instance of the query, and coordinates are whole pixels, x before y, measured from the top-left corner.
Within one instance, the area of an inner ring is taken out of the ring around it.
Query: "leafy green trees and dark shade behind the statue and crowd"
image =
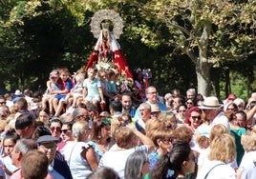
[[[162,92],[215,88],[218,95],[226,70],[239,71],[252,90],[255,7],[250,0],[2,0],[0,85],[36,89],[53,68],[84,67],[96,43],[91,17],[112,9],[123,19],[118,41],[131,69],[150,68]]]

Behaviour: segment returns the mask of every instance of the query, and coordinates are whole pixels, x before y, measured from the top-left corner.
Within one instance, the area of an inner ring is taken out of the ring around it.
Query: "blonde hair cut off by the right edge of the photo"
[[[256,133],[250,132],[242,135],[241,144],[246,152],[256,150]]]

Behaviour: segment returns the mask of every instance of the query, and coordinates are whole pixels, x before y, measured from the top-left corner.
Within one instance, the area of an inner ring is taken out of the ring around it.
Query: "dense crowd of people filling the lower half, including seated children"
[[[256,178],[256,92],[221,100],[134,71],[50,72],[46,91],[0,96],[0,178]],[[127,85],[127,84],[126,84]]]

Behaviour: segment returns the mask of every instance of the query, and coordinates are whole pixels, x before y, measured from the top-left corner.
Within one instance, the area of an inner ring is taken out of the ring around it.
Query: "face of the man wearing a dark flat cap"
[[[51,163],[55,156],[56,148],[57,148],[56,144],[54,142],[51,142],[51,143],[40,144],[37,149],[45,153],[49,163]]]

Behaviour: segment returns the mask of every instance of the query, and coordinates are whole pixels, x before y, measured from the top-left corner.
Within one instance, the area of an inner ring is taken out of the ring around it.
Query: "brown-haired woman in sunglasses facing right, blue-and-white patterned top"
[[[95,149],[97,161],[103,153],[111,147],[111,121],[108,119],[93,122],[91,141],[89,144]]]

